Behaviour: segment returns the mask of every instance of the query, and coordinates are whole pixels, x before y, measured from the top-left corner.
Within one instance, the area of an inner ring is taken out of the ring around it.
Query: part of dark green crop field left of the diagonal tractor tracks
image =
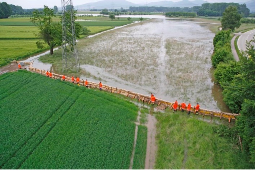
[[[21,73],[21,71],[19,71],[19,73]],[[30,76],[31,74],[25,75]],[[47,120],[64,102],[65,97],[67,98],[70,94],[69,92],[63,93],[62,96],[52,98],[55,94],[54,92],[56,92],[55,89],[47,90],[40,89],[39,87],[41,87],[41,84],[44,84],[47,88],[54,85],[54,82],[51,83],[46,80],[47,78],[38,77],[38,74],[33,74],[31,77],[34,77],[32,79],[33,81],[30,80],[29,83],[19,82],[21,85],[25,84],[25,86],[0,101],[0,106],[2,106],[0,120],[1,123],[3,123],[0,126],[1,137],[6,138],[6,141],[1,142],[0,145],[1,155],[4,156],[0,166],[2,166],[8,158],[12,157],[13,154],[36,133],[45,120]],[[16,82],[15,80],[12,81]],[[10,80],[8,80],[8,82],[10,82]],[[6,84],[8,84],[8,82],[6,82]],[[41,84],[36,82],[40,82]],[[65,86],[63,86],[62,89],[64,91]],[[41,97],[42,94],[44,96],[43,98]],[[49,105],[42,105],[47,104],[49,101]],[[13,104],[15,104],[15,107]],[[13,136],[10,137],[9,135]]]

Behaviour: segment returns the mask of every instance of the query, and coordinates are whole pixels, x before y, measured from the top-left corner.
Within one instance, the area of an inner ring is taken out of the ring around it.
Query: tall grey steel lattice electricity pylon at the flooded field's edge
[[[72,0],[62,0],[62,65],[64,70],[78,71],[75,19]]]

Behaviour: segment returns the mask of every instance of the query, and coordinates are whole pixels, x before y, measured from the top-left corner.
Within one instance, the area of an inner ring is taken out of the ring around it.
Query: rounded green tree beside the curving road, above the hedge
[[[228,6],[221,18],[221,26],[223,29],[231,29],[232,31],[235,30],[235,28],[239,28],[241,26],[241,20],[242,16],[238,13],[236,6]]]

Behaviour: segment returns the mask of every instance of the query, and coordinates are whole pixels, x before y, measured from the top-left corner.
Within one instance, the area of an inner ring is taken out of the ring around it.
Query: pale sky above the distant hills
[[[82,5],[91,2],[97,2],[101,0],[72,0],[73,6]],[[146,4],[150,2],[157,2],[163,0],[127,0],[131,3],[135,4]],[[168,0],[172,2],[178,2],[181,0]],[[190,0],[193,1],[193,0]],[[246,2],[250,0],[205,0],[208,3],[239,3],[239,2]],[[53,6],[58,6],[61,8],[61,0],[0,0],[0,2],[6,2],[7,4],[13,4],[21,6],[23,9],[32,9],[32,8],[44,8],[44,5],[48,6],[49,8],[53,8]]]

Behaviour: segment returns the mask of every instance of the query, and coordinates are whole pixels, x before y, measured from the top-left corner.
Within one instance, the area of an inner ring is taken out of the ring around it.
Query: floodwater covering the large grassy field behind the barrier
[[[81,79],[229,112],[216,98],[221,91],[210,72],[215,34],[199,23],[154,18],[80,40],[80,66],[87,73]]]

